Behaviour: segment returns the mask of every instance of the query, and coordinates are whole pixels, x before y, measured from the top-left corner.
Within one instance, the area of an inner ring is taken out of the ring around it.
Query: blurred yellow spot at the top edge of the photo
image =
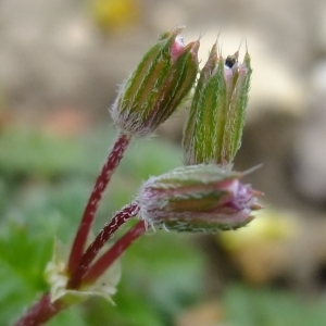
[[[91,14],[103,30],[118,30],[138,21],[139,7],[136,0],[92,0]]]

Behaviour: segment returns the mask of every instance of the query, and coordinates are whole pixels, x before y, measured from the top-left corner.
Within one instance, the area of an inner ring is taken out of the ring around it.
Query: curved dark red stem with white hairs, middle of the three
[[[86,252],[83,254],[78,265],[76,266],[72,277],[68,280],[68,289],[77,289],[89,269],[90,263],[93,261],[98,252],[103,248],[106,241],[113,236],[113,234],[126,223],[127,220],[134,217],[139,212],[139,205],[131,203],[120,212],[102,228],[96,239],[90,243]]]

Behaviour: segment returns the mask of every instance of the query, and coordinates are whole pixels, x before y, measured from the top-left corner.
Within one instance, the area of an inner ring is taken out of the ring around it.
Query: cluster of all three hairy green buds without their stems
[[[199,41],[185,46],[181,28],[163,34],[121,87],[111,109],[130,136],[153,133],[177,109],[198,74]],[[240,147],[251,65],[247,51],[226,59],[212,47],[192,95],[183,147],[188,166],[151,177],[139,191],[140,218],[174,230],[216,231],[249,223],[261,192],[231,172]]]

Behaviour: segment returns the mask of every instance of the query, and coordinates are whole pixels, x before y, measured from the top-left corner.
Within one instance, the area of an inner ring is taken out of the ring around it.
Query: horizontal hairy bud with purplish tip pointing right
[[[138,195],[140,217],[177,231],[236,229],[253,220],[262,193],[239,181],[243,174],[215,164],[175,168],[146,181]]]

